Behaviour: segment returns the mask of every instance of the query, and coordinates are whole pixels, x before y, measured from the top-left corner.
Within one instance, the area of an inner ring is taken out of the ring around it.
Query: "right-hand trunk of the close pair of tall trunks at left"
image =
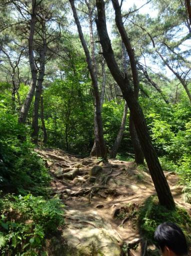
[[[45,55],[47,51],[46,39],[45,39],[45,24],[42,24],[42,37],[43,37],[43,45],[40,52],[40,71],[37,80],[37,86],[35,91],[35,99],[33,106],[33,116],[32,116],[32,139],[35,144],[38,143],[38,111],[39,111],[39,103],[40,103],[40,95],[42,92],[42,82],[44,78],[45,72]]]

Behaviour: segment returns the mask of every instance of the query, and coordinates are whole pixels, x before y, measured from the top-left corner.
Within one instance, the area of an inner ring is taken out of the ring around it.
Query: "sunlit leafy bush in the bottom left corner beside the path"
[[[45,238],[63,224],[59,199],[7,194],[0,199],[1,255],[47,255]]]

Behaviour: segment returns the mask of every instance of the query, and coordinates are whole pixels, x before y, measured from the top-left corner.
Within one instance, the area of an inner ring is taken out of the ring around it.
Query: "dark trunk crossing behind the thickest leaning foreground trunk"
[[[122,42],[123,42],[123,44],[126,48],[126,52],[128,54],[128,57],[129,57],[130,68],[131,68],[131,71],[132,71],[134,96],[137,100],[138,99],[138,91],[139,91],[139,79],[138,79],[138,72],[137,72],[137,68],[136,68],[136,60],[135,60],[135,57],[134,57],[134,52],[132,50],[130,40],[127,37],[126,31],[123,27],[122,18],[121,18],[121,11],[120,11],[120,6],[118,4],[118,1],[117,0],[112,0],[112,5],[113,5],[114,11],[115,11],[115,23],[116,23],[116,26],[117,26],[118,31],[120,33]],[[130,113],[130,115],[131,115],[131,113]],[[144,163],[144,156],[143,156],[143,153],[141,152],[142,149],[140,147],[140,143],[138,142],[138,136],[137,136],[136,130],[134,129],[134,125],[131,124],[131,122],[133,122],[132,118],[130,118],[130,121],[129,121],[129,130],[133,130],[133,131],[130,131],[130,135],[131,135],[131,141],[132,141],[132,145],[133,145],[133,149],[134,149],[135,162],[138,160],[138,162],[136,162],[137,164],[143,164]]]

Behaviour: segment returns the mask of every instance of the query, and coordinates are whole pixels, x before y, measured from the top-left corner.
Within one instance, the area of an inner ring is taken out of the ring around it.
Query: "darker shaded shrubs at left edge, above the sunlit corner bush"
[[[41,194],[50,176],[28,139],[18,139],[26,132],[5,106],[0,109],[0,186],[20,194]]]

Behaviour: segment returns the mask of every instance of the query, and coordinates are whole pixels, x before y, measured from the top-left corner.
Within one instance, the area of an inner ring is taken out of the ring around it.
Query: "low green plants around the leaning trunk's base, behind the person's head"
[[[159,205],[155,196],[147,198],[139,209],[138,224],[140,231],[149,242],[154,242],[154,231],[162,222],[169,221],[177,224],[184,231],[187,239],[191,242],[191,219],[188,213],[180,207],[175,210],[167,210]]]

